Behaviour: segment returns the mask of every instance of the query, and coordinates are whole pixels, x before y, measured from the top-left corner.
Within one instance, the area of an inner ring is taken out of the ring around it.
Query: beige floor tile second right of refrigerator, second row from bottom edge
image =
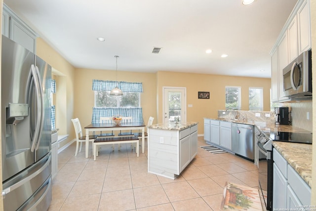
[[[69,197],[86,196],[102,192],[103,180],[91,179],[77,181],[69,193]]]

